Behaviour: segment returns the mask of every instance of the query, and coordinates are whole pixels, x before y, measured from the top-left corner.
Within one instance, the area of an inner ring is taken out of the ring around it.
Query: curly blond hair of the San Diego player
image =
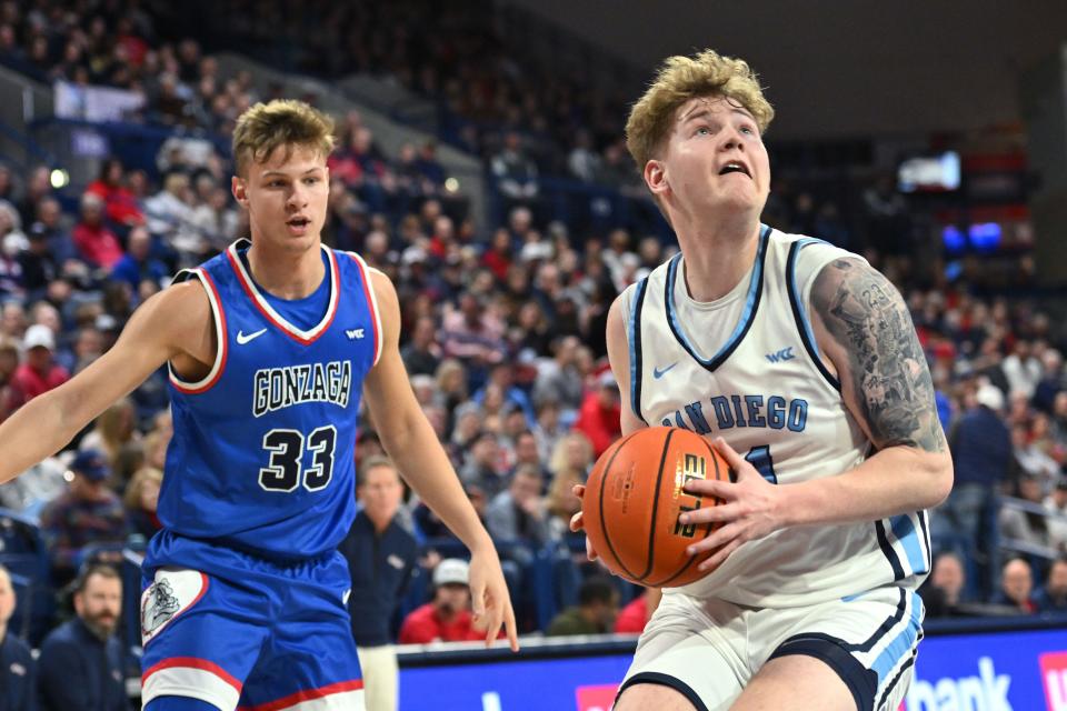
[[[760,133],[775,118],[756,72],[746,61],[722,57],[710,49],[696,57],[668,57],[626,121],[626,147],[638,171],[644,172],[645,164],[658,154],[670,136],[678,107],[696,97],[708,96],[740,103],[756,119]]]

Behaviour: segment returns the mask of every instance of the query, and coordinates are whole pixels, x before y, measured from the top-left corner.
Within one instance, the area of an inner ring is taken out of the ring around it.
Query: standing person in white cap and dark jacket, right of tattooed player
[[[963,557],[978,555],[977,590],[988,595],[998,571],[997,492],[1013,462],[1011,435],[1000,418],[1004,393],[984,383],[975,405],[957,418],[948,434],[956,479],[933,517],[935,539]]]

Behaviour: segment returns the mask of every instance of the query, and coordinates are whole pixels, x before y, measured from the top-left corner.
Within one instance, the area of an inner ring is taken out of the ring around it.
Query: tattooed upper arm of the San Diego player
[[[889,280],[859,261],[838,259],[816,277],[811,306],[845,353],[842,387],[854,391],[875,445],[945,451],[926,356]]]

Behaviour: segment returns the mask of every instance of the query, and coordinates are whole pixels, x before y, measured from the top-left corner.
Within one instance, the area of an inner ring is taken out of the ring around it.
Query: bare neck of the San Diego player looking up
[[[759,246],[759,221],[730,224],[709,222],[677,229],[685,257],[686,289],[694,301],[708,302],[728,294],[752,268]]]

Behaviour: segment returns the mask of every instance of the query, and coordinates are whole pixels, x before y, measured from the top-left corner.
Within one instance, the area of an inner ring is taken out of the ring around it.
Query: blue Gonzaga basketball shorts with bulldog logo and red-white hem
[[[223,711],[363,709],[339,553],[278,564],[174,535],[149,545],[141,594],[141,698]]]

